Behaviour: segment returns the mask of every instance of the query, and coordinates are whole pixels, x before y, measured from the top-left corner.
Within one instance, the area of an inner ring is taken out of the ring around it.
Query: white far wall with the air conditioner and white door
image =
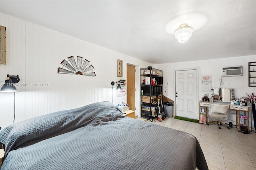
[[[233,88],[235,90],[235,97],[246,96],[246,93],[250,95],[254,93],[255,95],[256,87],[248,87],[248,62],[255,62],[255,61],[256,61],[256,55],[250,55],[250,56],[228,57],[228,58],[220,58],[220,59],[206,59],[206,60],[200,60],[200,61],[189,61],[189,62],[180,62],[180,63],[156,64],[154,65],[154,67],[163,70],[163,77],[164,77],[163,95],[165,95],[166,97],[174,101],[175,101],[175,71],[181,70],[181,69],[197,68],[198,76],[199,76],[198,99],[200,100],[202,99],[204,94],[206,94],[206,92],[202,92],[201,76],[211,75],[212,88],[219,88],[220,79],[222,76],[222,67],[238,66],[238,65],[243,66],[243,76],[222,77],[223,85],[221,85],[221,88]],[[211,91],[209,91],[208,93],[210,94],[210,92]],[[175,110],[174,110],[174,113],[175,113]],[[251,111],[250,111],[250,116],[251,116]]]

